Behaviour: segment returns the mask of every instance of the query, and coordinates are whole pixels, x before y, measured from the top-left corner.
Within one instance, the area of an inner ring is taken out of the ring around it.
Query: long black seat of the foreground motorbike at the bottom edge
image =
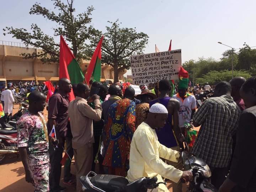
[[[94,186],[107,192],[126,191],[129,183],[125,177],[116,175],[96,175],[90,181]]]

